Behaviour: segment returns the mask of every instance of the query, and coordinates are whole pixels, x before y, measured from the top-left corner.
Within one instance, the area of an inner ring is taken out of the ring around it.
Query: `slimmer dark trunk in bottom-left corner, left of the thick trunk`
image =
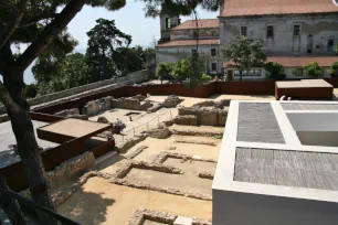
[[[0,188],[2,190],[9,190],[2,175],[0,175]],[[0,207],[13,225],[27,225],[18,202],[3,192],[0,192]]]

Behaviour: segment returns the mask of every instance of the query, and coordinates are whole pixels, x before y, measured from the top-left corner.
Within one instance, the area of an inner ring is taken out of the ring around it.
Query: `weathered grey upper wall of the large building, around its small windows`
[[[293,35],[295,23],[300,24],[299,39]],[[274,25],[273,40],[266,38],[267,25]],[[313,54],[334,54],[327,51],[327,42],[334,39],[334,44],[338,43],[337,14],[220,18],[221,45],[230,44],[240,34],[241,26],[247,26],[247,38],[261,40],[270,55],[307,54],[309,34],[313,35]]]

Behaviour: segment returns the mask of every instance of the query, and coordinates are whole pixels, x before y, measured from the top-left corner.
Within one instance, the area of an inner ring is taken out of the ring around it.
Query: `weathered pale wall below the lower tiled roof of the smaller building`
[[[192,56],[192,50],[196,46],[176,46],[176,47],[157,47],[156,62],[157,64],[175,63],[180,60],[188,60]],[[216,49],[216,55],[211,56],[211,49]],[[220,60],[220,46],[219,45],[200,45],[199,53],[205,62],[205,73],[219,74],[223,66],[222,60]],[[211,63],[216,63],[216,71],[211,71]],[[208,69],[209,67],[209,69]]]

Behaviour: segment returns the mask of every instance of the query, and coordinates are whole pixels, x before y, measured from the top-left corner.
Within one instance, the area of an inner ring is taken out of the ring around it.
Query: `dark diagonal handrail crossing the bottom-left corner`
[[[13,200],[17,200],[18,203],[25,208],[27,212],[31,212],[31,213],[38,213],[40,215],[44,215],[44,216],[49,216],[50,218],[53,218],[55,222],[57,222],[57,224],[60,225],[80,225],[80,223],[76,223],[67,217],[64,217],[35,202],[32,202],[23,196],[21,196],[20,194],[18,194],[17,192],[13,192],[11,190],[4,190],[0,188],[0,192]],[[40,225],[43,223],[40,223],[36,219],[27,219],[28,224],[34,224],[34,225]],[[0,224],[1,224],[1,219],[0,219]]]

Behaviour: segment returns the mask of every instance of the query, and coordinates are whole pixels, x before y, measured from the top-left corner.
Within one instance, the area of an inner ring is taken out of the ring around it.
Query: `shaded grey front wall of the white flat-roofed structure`
[[[337,212],[332,202],[212,190],[212,225],[337,225]]]

